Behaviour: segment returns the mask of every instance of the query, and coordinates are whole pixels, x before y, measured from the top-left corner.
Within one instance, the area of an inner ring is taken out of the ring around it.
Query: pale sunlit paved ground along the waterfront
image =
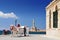
[[[59,38],[46,37],[45,35],[30,35],[27,37],[11,37],[11,35],[0,35],[0,40],[60,40]]]

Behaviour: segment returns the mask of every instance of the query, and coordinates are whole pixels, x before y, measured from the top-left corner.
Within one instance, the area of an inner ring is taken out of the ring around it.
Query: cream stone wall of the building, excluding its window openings
[[[53,28],[53,12],[58,10],[58,28]],[[49,28],[49,11],[51,10],[51,28]],[[46,7],[46,35],[60,37],[60,1],[51,2]]]

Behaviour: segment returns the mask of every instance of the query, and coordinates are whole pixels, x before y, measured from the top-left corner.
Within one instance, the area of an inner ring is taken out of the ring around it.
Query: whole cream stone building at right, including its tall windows
[[[46,7],[46,35],[60,37],[60,0],[52,0]]]

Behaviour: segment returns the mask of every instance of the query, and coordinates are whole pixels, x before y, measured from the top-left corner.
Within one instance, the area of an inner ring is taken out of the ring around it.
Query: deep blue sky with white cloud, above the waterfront
[[[17,23],[29,28],[35,20],[38,29],[46,29],[45,7],[52,0],[0,0],[0,30],[9,29]]]

